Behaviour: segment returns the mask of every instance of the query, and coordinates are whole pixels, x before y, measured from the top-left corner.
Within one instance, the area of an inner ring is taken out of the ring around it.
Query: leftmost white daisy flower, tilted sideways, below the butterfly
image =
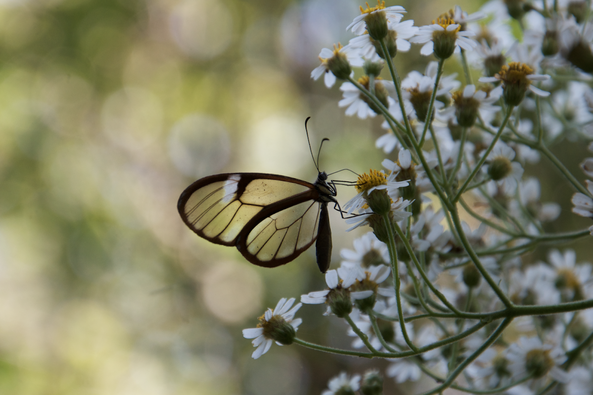
[[[274,310],[267,309],[262,317],[259,317],[259,325],[255,328],[243,329],[243,337],[246,339],[254,339],[254,347],[257,347],[256,351],[251,354],[253,359],[261,357],[263,354],[270,349],[272,342],[276,341],[276,344],[282,345],[292,343],[294,339],[294,332],[297,331],[298,326],[301,325],[302,319],[294,319],[295,313],[301,308],[302,304],[298,303],[295,307],[292,304],[295,302],[295,298],[280,299]],[[292,309],[291,309],[292,307]],[[293,336],[286,336],[286,326],[292,327]],[[279,329],[280,327],[280,329]]]

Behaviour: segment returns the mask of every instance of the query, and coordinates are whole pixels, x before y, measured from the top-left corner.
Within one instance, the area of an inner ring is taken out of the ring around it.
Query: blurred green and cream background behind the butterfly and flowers
[[[417,25],[454,5],[400,4]],[[313,181],[307,116],[314,149],[331,139],[322,169],[380,166],[381,121],[346,118],[339,89],[310,79],[358,5],[0,0],[0,393],[318,394],[342,369],[384,367],[298,346],[251,359],[241,329],[324,288],[314,253],[259,268],[176,208],[219,172]],[[413,47],[396,64],[426,59]],[[332,227],[336,267],[357,235]],[[322,311],[299,311],[299,336],[349,346]]]

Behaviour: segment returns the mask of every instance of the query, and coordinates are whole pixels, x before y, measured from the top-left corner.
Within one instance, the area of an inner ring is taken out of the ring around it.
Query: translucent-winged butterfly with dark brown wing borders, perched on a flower
[[[317,265],[325,273],[331,259],[327,205],[339,204],[336,185],[315,167],[313,184],[264,173],[206,176],[181,193],[177,209],[198,236],[235,246],[247,261],[266,268],[293,261],[315,242]]]

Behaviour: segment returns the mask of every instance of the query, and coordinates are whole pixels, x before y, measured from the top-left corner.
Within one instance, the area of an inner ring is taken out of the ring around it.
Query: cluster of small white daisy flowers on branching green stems
[[[346,115],[380,116],[387,130],[376,142],[383,169],[359,175],[343,205],[348,231],[372,232],[301,303],[325,304],[354,338],[355,351],[317,349],[390,363],[362,380],[342,372],[324,394],[380,394],[383,375],[428,378],[431,394],[590,393],[593,265],[578,256],[590,259],[593,226],[578,216],[593,219],[593,158],[581,162],[581,183],[554,146],[593,152],[591,2],[492,0],[422,27],[404,15],[384,2],[361,7],[347,27],[355,37],[324,49],[311,73],[325,73],[328,88],[343,80]],[[400,78],[393,59],[412,44],[436,61]],[[463,75],[447,72],[455,62]],[[527,176],[540,166],[562,178]],[[570,194],[576,216],[562,213]],[[554,222],[561,213],[570,229]],[[573,240],[585,247],[549,246]],[[291,306],[281,300],[244,332],[254,358],[272,341],[314,348],[295,338],[300,304]]]

